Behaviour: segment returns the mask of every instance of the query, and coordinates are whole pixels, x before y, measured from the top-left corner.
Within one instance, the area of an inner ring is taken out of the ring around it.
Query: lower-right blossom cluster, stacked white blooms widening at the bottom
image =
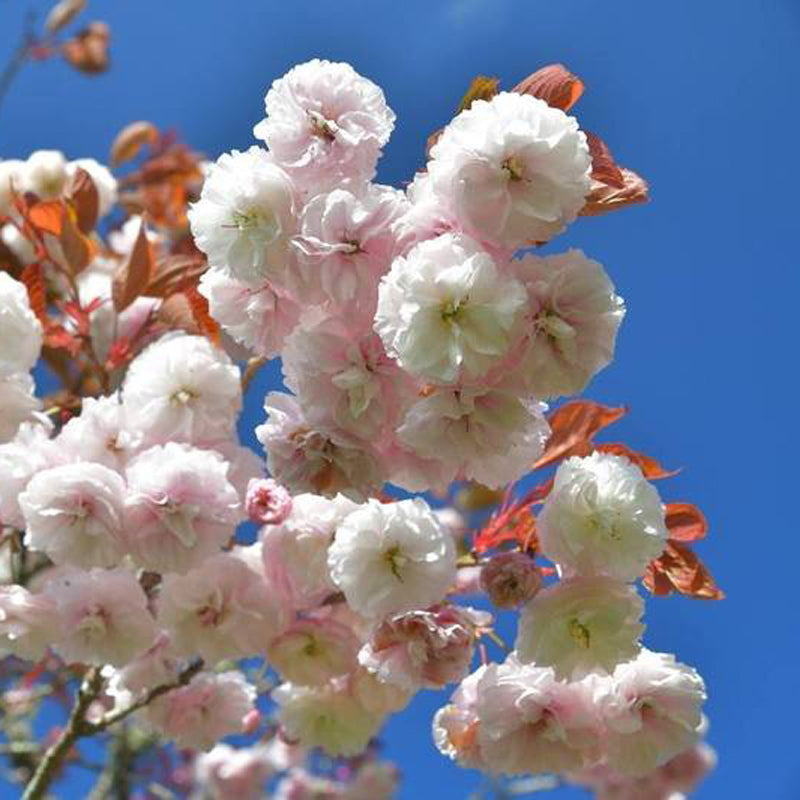
[[[660,498],[625,458],[569,458],[537,532],[561,580],[520,595],[514,652],[462,682],[434,721],[434,739],[465,766],[555,772],[598,793],[601,784],[627,791],[691,751],[702,733],[703,681],[642,647],[644,604],[628,583],[665,546]],[[518,587],[528,572],[507,555],[498,559],[484,583],[504,598],[509,575]]]

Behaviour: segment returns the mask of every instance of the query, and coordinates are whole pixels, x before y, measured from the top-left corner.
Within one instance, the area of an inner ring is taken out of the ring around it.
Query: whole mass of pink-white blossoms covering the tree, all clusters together
[[[389,798],[396,771],[362,754],[454,684],[433,733],[461,765],[601,798],[688,791],[710,767],[705,689],[641,642],[635,582],[669,530],[635,459],[565,449],[489,557],[466,507],[394,499],[472,482],[508,500],[546,457],[544,401],[612,360],[625,306],[603,267],[532,252],[588,213],[597,145],[536,92],[491,92],[401,191],[375,181],[395,115],[349,65],[301,64],[265,103],[266,146],[199,165],[159,145],[107,241],[81,227],[122,199],[105,167],[0,162],[18,278],[0,271],[0,523],[36,566],[15,556],[0,586],[2,652],[94,670],[98,729],[135,713],[204,751],[200,799],[279,773],[276,798]],[[43,344],[80,365],[55,414],[30,377]],[[277,356],[264,464],[236,426]],[[502,663],[481,643],[495,615],[459,600],[475,593],[519,611]],[[220,742],[237,733],[259,741]],[[307,770],[316,749],[344,771]]]

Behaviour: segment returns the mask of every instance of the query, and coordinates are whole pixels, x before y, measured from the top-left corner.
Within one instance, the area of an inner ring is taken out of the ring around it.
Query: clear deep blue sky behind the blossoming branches
[[[24,9],[0,0],[0,60]],[[174,127],[211,157],[252,143],[270,82],[319,56],[379,83],[398,116],[379,177],[400,182],[476,73],[510,87],[562,61],[576,107],[653,202],[573,226],[557,247],[602,261],[626,298],[616,362],[588,395],[629,403],[625,437],[671,467],[666,499],[711,522],[698,550],[729,599],[650,600],[646,643],[709,685],[717,772],[702,800],[800,797],[797,336],[800,203],[797,0],[138,0],[90,2],[111,24],[111,71],[28,67],[0,110],[0,157],[57,147],[103,158],[133,119]],[[253,404],[248,427],[261,418]],[[387,750],[401,797],[465,798],[476,776],[443,761],[423,695]],[[559,790],[552,795],[580,797]]]

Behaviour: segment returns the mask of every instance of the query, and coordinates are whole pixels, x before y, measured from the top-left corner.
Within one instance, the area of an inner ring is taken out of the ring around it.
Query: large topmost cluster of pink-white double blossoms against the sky
[[[529,95],[476,101],[400,192],[373,182],[394,114],[349,65],[295,67],[266,109],[268,149],[221,156],[190,220],[212,314],[283,356],[294,398],[270,395],[258,429],[273,476],[356,500],[520,478],[548,435],[540,401],[611,360],[624,315],[579,251],[513,258],[584,204],[575,119]]]

